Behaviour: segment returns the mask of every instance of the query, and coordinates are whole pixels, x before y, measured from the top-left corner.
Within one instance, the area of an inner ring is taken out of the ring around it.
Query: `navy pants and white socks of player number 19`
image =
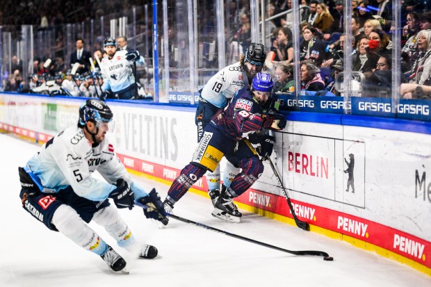
[[[209,103],[202,97],[199,98],[197,103],[197,109],[195,114],[195,124],[197,127],[197,142],[200,142],[204,134],[204,129],[207,124],[211,121],[211,117],[218,111],[218,107]],[[223,172],[223,183],[229,188],[231,182],[234,180],[236,174],[239,173],[239,168],[234,167],[229,161],[227,161],[225,170]],[[213,172],[206,172],[206,183],[208,184],[209,190],[218,189],[220,190],[220,165],[217,165]]]

